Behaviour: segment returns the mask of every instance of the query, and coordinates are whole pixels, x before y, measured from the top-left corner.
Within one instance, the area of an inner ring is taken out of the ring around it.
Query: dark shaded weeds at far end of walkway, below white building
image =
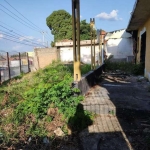
[[[106,60],[105,69],[106,71],[120,70],[122,72],[134,75],[144,74],[143,64],[133,64],[131,62],[111,62],[110,60]]]

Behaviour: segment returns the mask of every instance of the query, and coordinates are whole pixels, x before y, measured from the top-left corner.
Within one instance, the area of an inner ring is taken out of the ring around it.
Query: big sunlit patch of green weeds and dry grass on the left
[[[0,88],[0,144],[11,145],[28,137],[53,137],[60,127],[67,134],[70,118],[83,96],[75,95],[72,72],[60,62],[23,78],[6,82]],[[82,110],[83,112],[83,110]],[[85,112],[86,113],[86,112]],[[89,118],[91,114],[86,113]],[[83,119],[80,116],[77,120]],[[74,126],[74,119],[69,124]],[[82,127],[86,126],[86,122]]]

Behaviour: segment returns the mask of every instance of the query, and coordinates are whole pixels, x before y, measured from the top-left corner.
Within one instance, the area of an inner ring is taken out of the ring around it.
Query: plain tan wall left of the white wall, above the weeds
[[[34,49],[34,68],[44,68],[53,60],[58,60],[59,53],[56,48],[36,48]]]

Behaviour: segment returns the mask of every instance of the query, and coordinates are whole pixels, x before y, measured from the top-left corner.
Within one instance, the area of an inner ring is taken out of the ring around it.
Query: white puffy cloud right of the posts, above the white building
[[[122,18],[118,17],[118,10],[112,10],[110,13],[102,12],[96,15],[96,18],[99,18],[101,20],[110,20],[110,21],[122,20]]]

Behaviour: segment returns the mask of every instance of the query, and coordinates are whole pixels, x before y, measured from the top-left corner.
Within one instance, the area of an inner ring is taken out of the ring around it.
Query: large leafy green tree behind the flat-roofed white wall
[[[54,35],[54,42],[64,39],[72,40],[72,16],[65,10],[53,11],[46,18],[47,26]],[[80,23],[80,38],[81,40],[90,39],[90,24],[86,20]]]

